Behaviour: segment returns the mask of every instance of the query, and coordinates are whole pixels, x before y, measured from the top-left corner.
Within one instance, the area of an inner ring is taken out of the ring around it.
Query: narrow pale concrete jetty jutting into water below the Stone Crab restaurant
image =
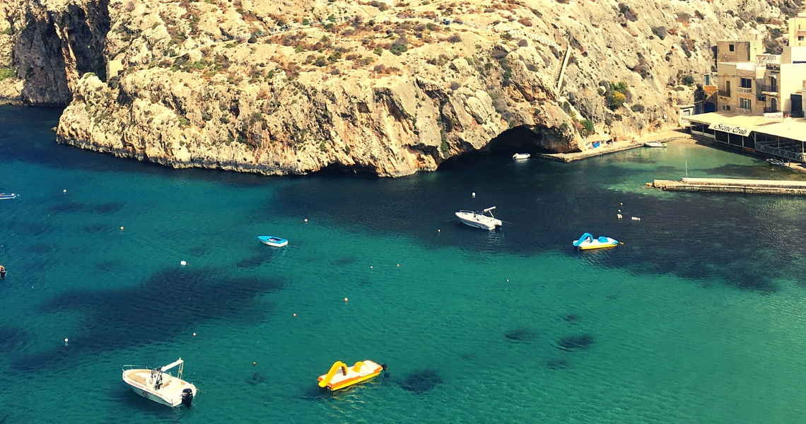
[[[647,187],[671,191],[713,193],[791,194],[806,196],[806,181],[742,180],[739,178],[681,178],[680,181],[655,180]]]

